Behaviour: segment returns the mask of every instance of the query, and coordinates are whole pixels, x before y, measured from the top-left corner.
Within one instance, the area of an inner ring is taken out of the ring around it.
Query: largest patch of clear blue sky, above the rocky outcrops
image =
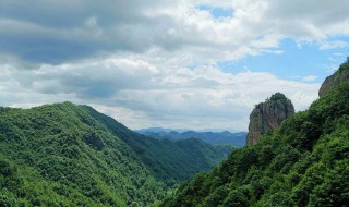
[[[330,40],[349,42],[348,37],[330,38]],[[238,61],[219,62],[221,70],[239,73],[244,70],[253,72],[268,71],[280,78],[303,81],[304,76],[315,76],[312,82],[322,83],[338,65],[347,61],[349,47],[321,50],[316,44],[298,44],[292,39],[280,41],[280,53],[264,53],[246,57]]]

